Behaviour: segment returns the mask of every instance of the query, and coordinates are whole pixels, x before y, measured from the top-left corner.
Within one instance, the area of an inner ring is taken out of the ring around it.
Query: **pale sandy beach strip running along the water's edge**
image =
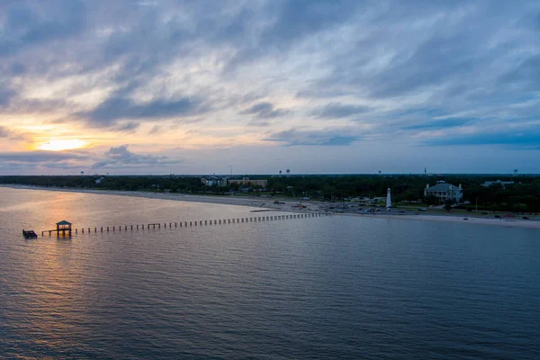
[[[299,201],[290,201],[288,199],[279,199],[281,204],[275,204],[273,198],[257,198],[257,197],[245,197],[245,196],[215,196],[215,195],[192,195],[184,193],[145,193],[138,191],[118,191],[118,190],[89,190],[89,189],[72,189],[72,188],[49,188],[40,186],[29,185],[17,185],[17,184],[0,184],[0,187],[8,187],[20,190],[42,190],[53,191],[63,193],[91,193],[102,195],[116,195],[116,196],[130,196],[141,197],[147,199],[157,200],[172,200],[181,202],[202,202],[202,203],[216,203],[222,205],[235,205],[235,206],[248,206],[256,207],[264,211],[284,211],[293,213],[306,213],[306,212],[329,212],[332,216],[356,216],[356,217],[373,217],[378,219],[391,219],[391,220],[420,220],[420,221],[441,221],[441,222],[460,222],[478,225],[493,225],[504,227],[516,227],[527,229],[540,229],[539,220],[521,220],[521,219],[496,219],[486,218],[482,216],[475,216],[475,214],[456,215],[453,213],[439,213],[439,214],[396,214],[396,213],[376,213],[376,214],[363,214],[356,212],[335,212],[322,209],[320,202],[304,202],[302,205],[305,208],[293,208],[293,205],[298,204]],[[467,220],[465,220],[467,219]]]

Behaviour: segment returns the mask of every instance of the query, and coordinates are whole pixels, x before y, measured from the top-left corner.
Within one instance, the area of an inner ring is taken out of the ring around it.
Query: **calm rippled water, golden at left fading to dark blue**
[[[538,359],[540,231],[0,188],[0,357]],[[270,214],[267,212],[262,214]]]

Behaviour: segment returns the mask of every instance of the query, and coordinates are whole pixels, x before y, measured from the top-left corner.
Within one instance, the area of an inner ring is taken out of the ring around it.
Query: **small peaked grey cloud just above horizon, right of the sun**
[[[139,155],[128,149],[128,145],[109,148],[105,157],[94,163],[92,168],[121,168],[140,166],[170,166],[180,164],[182,160],[153,155]]]

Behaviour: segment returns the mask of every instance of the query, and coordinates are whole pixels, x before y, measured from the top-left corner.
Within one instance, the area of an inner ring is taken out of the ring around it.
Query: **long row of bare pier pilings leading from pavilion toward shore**
[[[177,222],[156,222],[148,224],[132,224],[132,225],[121,225],[121,226],[107,226],[107,227],[94,227],[94,228],[81,228],[75,229],[76,234],[91,234],[98,232],[121,232],[123,231],[133,231],[139,229],[161,229],[163,228],[189,228],[193,226],[210,226],[210,225],[220,225],[220,224],[238,224],[245,222],[262,222],[262,221],[274,221],[274,220],[292,220],[292,219],[306,219],[306,218],[318,218],[321,216],[329,216],[330,213],[301,213],[301,214],[291,214],[291,215],[274,215],[274,216],[257,216],[249,218],[233,218],[233,219],[219,219],[219,220],[192,220],[192,221],[177,221]],[[49,234],[50,235],[50,234]]]

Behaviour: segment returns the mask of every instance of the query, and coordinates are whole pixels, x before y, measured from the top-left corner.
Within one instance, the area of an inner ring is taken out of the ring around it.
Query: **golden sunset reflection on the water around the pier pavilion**
[[[4,197],[1,196],[3,194]],[[152,279],[166,284],[157,287],[159,291],[170,289],[170,284],[166,282],[172,276],[166,272],[167,266],[177,271],[185,266],[185,262],[177,264],[175,258],[171,257],[174,251],[180,251],[179,247],[191,248],[195,254],[199,253],[199,238],[194,235],[199,229],[98,232],[92,235],[81,235],[80,229],[220,219],[225,216],[224,213],[231,218],[239,218],[249,216],[248,211],[251,210],[248,207],[102,194],[2,188],[0,204],[11,207],[11,211],[0,213],[3,220],[0,224],[5,224],[4,234],[7,234],[5,241],[0,242],[0,249],[5,247],[9,250],[6,258],[1,257],[3,254],[0,252],[0,261],[7,261],[0,269],[4,268],[5,274],[10,275],[6,280],[9,284],[4,286],[0,282],[2,289],[5,288],[6,293],[9,293],[6,296],[0,294],[0,298],[5,299],[5,302],[0,303],[0,308],[10,310],[5,323],[13,340],[6,341],[13,341],[14,348],[17,344],[29,347],[35,345],[33,350],[39,354],[49,352],[60,355],[69,348],[80,349],[85,342],[103,336],[103,322],[110,325],[115,313],[130,314],[131,305],[125,305],[123,299],[133,296],[133,283],[151,289],[155,286],[154,282],[149,281]],[[58,237],[56,233],[49,236],[48,232],[41,236],[40,231],[56,229],[56,223],[60,220],[72,222],[73,229],[79,229],[79,234],[73,231],[71,239]],[[239,229],[229,227],[235,228]],[[21,229],[34,229],[39,238],[23,240]],[[211,234],[223,228],[216,226],[203,229]],[[148,241],[148,238],[159,239],[159,245],[156,246],[155,241]],[[226,248],[227,243],[219,241],[217,246],[220,249]],[[202,248],[202,254],[210,251]],[[189,254],[191,250],[186,251]],[[233,262],[238,262],[241,252],[235,254]],[[164,259],[166,261],[162,261]],[[156,261],[152,267],[161,268],[159,271],[152,273],[153,269],[147,268],[152,261]],[[216,264],[215,270],[217,273],[221,269],[228,271],[229,263],[230,259],[225,257],[219,265]],[[197,263],[192,269],[204,267],[204,263]],[[166,276],[162,276],[164,274]],[[193,280],[193,283],[198,284],[198,281]],[[148,294],[149,299],[155,292]],[[111,304],[126,308],[113,309],[111,313]],[[148,300],[139,302],[139,307],[147,309],[147,306]]]

